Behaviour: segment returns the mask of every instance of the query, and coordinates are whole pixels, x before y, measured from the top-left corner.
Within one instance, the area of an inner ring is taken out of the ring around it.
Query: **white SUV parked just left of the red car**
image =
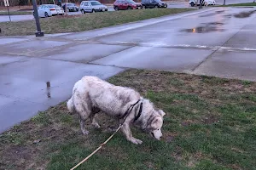
[[[83,14],[108,11],[108,7],[98,1],[82,1],[80,10]]]

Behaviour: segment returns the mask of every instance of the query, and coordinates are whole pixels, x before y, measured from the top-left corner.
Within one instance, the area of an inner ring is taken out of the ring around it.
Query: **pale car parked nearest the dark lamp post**
[[[38,16],[39,17],[49,17],[56,14],[64,14],[63,8],[55,4],[42,4],[38,7]]]

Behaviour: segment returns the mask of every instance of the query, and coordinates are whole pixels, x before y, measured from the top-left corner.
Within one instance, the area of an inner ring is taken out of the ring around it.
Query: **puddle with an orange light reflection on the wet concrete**
[[[207,32],[223,32],[224,29],[221,27],[224,25],[222,22],[210,22],[204,23],[204,26],[198,26],[195,28],[183,29],[182,31],[190,33],[207,33]]]

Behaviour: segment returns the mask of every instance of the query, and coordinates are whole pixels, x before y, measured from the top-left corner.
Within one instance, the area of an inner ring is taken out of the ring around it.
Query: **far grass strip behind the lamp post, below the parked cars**
[[[189,11],[189,8],[154,8],[145,10],[126,10],[95,14],[79,14],[69,16],[54,16],[41,19],[41,27],[44,33],[63,33],[88,31],[96,28],[115,26],[137,20],[146,20],[167,14],[177,14]],[[36,31],[34,20],[20,22],[0,23],[2,34],[6,36],[31,35]]]

